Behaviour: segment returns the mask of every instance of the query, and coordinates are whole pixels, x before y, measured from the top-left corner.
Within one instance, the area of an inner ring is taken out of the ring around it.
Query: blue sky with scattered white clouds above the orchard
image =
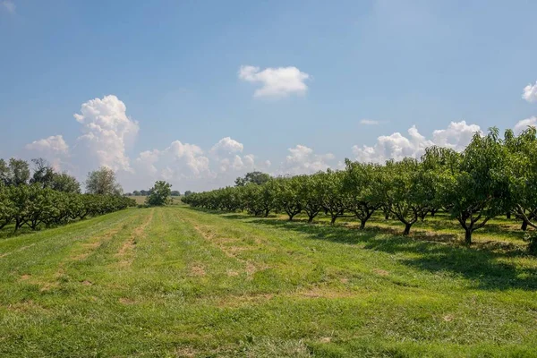
[[[0,0],[0,158],[126,192],[537,124],[537,2]]]

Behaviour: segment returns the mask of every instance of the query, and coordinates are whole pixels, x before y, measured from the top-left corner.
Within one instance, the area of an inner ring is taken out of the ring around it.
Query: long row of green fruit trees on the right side
[[[254,172],[258,173],[259,172]],[[420,160],[389,160],[384,166],[345,160],[344,171],[279,177],[260,185],[237,180],[237,186],[183,198],[193,207],[268,216],[284,211],[292,220],[304,212],[311,222],[324,211],[330,222],[350,213],[363,228],[382,209],[386,218],[405,224],[403,234],[418,220],[447,211],[462,226],[465,243],[492,218],[513,212],[527,226],[537,228],[537,136],[534,128],[516,136],[497,129],[475,133],[466,149],[430,147]],[[248,184],[245,184],[248,183]],[[259,187],[259,188],[258,188]]]

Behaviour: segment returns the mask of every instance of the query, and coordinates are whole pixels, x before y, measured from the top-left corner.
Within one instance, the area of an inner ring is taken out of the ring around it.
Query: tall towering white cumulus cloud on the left
[[[139,125],[126,115],[124,102],[114,95],[91,99],[82,104],[74,118],[82,124],[79,141],[98,166],[132,171],[125,149],[132,144]]]

